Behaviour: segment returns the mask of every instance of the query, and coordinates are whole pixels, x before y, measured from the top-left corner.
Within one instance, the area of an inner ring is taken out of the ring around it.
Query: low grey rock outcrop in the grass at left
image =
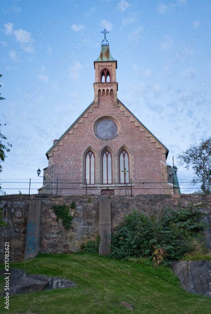
[[[0,270],[0,275],[4,275],[4,269]],[[61,277],[50,277],[44,275],[28,275],[23,270],[10,268],[9,295],[22,293],[32,293],[44,290],[70,288],[76,286],[72,281]],[[6,296],[6,291],[1,294]]]

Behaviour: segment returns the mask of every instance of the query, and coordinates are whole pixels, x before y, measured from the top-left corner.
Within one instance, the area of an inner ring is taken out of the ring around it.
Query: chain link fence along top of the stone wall
[[[179,179],[180,192],[183,194],[203,192],[202,182],[194,184],[190,180]],[[37,194],[38,189],[43,186],[43,179],[0,179],[0,195],[11,194]],[[171,193],[173,184],[169,182],[131,182],[126,186],[125,184],[112,183],[110,185],[103,185],[102,183],[95,183],[94,185],[86,185],[82,182],[48,182],[44,193],[48,194],[109,194],[115,191],[118,194],[168,194]],[[171,190],[171,191],[168,191]],[[176,193],[178,189],[175,185]],[[108,191],[108,192],[106,192]]]

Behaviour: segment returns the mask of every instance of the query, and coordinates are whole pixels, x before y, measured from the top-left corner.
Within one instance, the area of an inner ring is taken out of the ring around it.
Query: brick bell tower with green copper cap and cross
[[[95,83],[94,83],[94,107],[98,108],[99,97],[112,97],[113,106],[117,107],[118,83],[116,82],[117,60],[113,59],[106,39],[106,29],[101,32],[105,35],[101,43],[101,53],[94,61]]]

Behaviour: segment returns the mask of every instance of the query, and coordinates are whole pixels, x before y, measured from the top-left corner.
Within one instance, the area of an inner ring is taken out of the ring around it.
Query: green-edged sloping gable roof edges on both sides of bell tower
[[[166,149],[166,158],[168,156],[168,153],[169,153],[169,149],[167,149],[167,147],[165,145],[163,145],[163,143],[161,143],[161,141],[159,141],[158,138],[156,138],[156,136],[150,132],[150,130],[148,130],[147,127],[145,127],[145,125],[140,122],[140,120],[138,118],[136,118],[136,116],[119,100],[118,100],[118,103],[124,108],[124,111],[128,111],[129,115],[132,116],[137,122],[138,124],[140,125],[137,125],[137,126],[142,126],[142,128],[144,128],[146,132],[148,132],[158,143],[160,143],[162,145],[162,147],[164,149]],[[68,127],[68,129],[60,136],[60,138],[50,147],[50,149],[45,153],[47,158],[48,158],[48,153],[56,146],[58,145],[59,141],[64,138],[66,136],[66,134],[71,130],[71,128],[73,128],[80,120],[81,118],[83,118],[83,116],[85,114],[87,114],[87,112],[89,111],[89,109],[92,107],[92,105],[94,104],[94,100],[91,102],[91,104],[82,112],[82,114],[71,124],[70,127]]]

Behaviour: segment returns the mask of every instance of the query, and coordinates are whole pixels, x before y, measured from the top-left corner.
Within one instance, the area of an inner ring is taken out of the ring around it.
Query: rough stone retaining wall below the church
[[[90,197],[91,201],[88,201]],[[122,221],[124,214],[128,215],[135,208],[139,212],[149,215],[150,212],[161,210],[164,206],[177,208],[178,203],[185,207],[191,200],[207,203],[204,212],[207,213],[206,222],[211,224],[211,194],[172,194],[172,195],[124,195],[124,196],[62,196],[62,195],[6,195],[1,196],[3,219],[8,227],[0,228],[0,262],[3,262],[4,242],[10,243],[10,261],[24,258],[29,201],[41,200],[40,218],[40,253],[68,252],[80,249],[82,243],[96,239],[99,233],[99,201],[109,200],[111,204],[111,231]],[[73,228],[66,229],[61,219],[56,221],[52,209],[53,204],[69,205],[75,201],[76,208],[70,209]],[[208,230],[210,231],[210,230]],[[211,236],[207,232],[207,239],[211,248]]]

